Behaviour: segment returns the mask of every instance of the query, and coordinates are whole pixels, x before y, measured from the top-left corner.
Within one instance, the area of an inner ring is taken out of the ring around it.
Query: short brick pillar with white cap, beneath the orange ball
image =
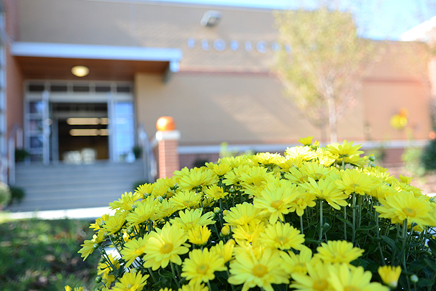
[[[179,139],[179,130],[156,132],[152,145],[158,178],[170,178],[175,170],[180,170]]]

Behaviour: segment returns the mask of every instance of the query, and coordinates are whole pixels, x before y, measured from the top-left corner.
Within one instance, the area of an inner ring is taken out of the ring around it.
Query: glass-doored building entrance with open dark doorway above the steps
[[[133,157],[130,83],[29,81],[26,87],[24,141],[31,161],[81,164]]]

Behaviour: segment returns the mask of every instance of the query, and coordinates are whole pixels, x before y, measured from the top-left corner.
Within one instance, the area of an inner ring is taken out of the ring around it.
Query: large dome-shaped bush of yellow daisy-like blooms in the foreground
[[[360,145],[300,142],[109,204],[79,251],[101,254],[99,290],[436,290],[436,202]]]

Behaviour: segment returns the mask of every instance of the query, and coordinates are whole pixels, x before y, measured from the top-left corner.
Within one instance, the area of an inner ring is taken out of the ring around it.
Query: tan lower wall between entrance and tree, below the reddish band
[[[138,123],[154,134],[157,119],[172,116],[181,145],[320,139],[320,130],[282,96],[280,81],[271,76],[179,73],[164,84],[158,76],[138,74],[135,92]],[[343,138],[363,139],[360,108],[340,121],[339,131]]]

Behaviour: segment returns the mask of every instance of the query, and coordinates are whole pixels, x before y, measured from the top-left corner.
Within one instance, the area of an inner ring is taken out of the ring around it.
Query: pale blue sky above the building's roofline
[[[272,9],[295,9],[301,0],[157,0],[244,6]],[[309,0],[305,3],[316,1]],[[436,0],[341,0],[356,17],[361,36],[371,39],[398,40],[401,33],[436,15]],[[350,6],[349,3],[361,3]],[[313,6],[313,5],[312,5]]]

